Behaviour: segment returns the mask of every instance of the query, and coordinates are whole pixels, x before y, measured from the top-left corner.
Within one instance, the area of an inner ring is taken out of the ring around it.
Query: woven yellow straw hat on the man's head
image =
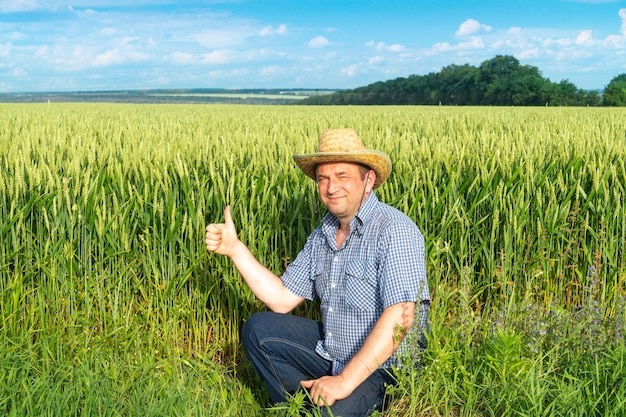
[[[294,155],[294,161],[309,177],[315,178],[315,167],[324,162],[354,162],[376,172],[374,188],[378,188],[391,172],[391,160],[380,151],[367,149],[354,129],[328,129],[322,133],[317,152]]]

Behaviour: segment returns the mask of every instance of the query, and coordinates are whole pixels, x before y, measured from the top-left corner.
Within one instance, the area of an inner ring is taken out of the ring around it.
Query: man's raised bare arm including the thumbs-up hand
[[[285,288],[280,277],[261,265],[239,240],[230,206],[224,209],[224,223],[206,227],[205,242],[207,250],[226,255],[233,261],[254,295],[270,310],[288,313],[303,301],[303,298]]]

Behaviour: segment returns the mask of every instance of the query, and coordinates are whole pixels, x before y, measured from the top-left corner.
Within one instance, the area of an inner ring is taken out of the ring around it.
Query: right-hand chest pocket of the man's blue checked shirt
[[[380,308],[376,269],[364,262],[346,265],[346,304],[356,310]]]

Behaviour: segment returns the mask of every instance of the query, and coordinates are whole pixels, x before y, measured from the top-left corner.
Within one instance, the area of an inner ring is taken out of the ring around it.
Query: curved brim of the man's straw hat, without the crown
[[[376,150],[362,150],[352,152],[320,152],[306,155],[294,155],[293,160],[302,172],[312,179],[316,179],[315,167],[326,162],[352,162],[363,164],[376,172],[374,188],[387,180],[391,173],[391,160],[387,155]]]

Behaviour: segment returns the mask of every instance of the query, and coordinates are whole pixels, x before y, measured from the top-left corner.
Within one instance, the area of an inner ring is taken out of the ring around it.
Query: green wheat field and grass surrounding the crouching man
[[[232,204],[283,271],[324,214],[291,155],[346,126],[427,240],[432,340],[389,414],[624,410],[624,110],[1,110],[0,414],[265,415],[238,338],[263,306],[204,226]]]

